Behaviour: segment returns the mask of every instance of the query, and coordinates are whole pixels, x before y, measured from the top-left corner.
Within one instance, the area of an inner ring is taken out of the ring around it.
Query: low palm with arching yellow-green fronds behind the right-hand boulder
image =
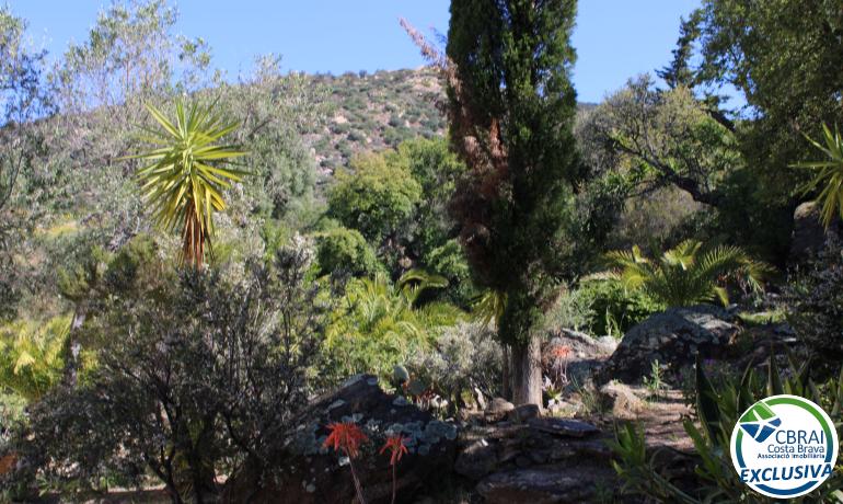
[[[686,240],[657,260],[645,257],[638,247],[607,254],[610,271],[594,275],[621,282],[625,288],[640,289],[666,307],[691,306],[719,299],[728,305],[725,283],[737,279],[751,290],[761,291],[761,279],[770,271],[732,245],[703,250],[703,243]]]

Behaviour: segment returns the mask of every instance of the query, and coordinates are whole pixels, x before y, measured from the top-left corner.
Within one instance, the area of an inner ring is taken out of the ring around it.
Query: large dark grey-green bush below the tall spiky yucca
[[[151,471],[174,502],[206,501],[215,476],[267,461],[313,392],[324,305],[305,282],[310,252],[282,249],[236,284],[185,271],[100,290],[83,325],[97,366],[31,410],[15,451],[53,485],[140,485]],[[131,273],[131,272],[136,273]],[[116,296],[116,293],[122,293]]]

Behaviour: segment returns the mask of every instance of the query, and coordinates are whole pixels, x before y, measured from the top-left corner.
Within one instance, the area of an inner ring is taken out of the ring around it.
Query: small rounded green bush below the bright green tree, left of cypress
[[[317,239],[316,259],[322,274],[345,272],[367,276],[382,270],[374,250],[359,231],[338,227]]]

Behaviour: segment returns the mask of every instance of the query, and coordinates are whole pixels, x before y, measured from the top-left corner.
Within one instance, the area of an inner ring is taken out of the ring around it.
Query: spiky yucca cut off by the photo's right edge
[[[822,137],[825,145],[807,135],[805,138],[822,151],[828,159],[796,163],[793,167],[806,168],[816,172],[813,179],[802,186],[802,192],[808,194],[819,191],[817,202],[822,205],[822,225],[828,229],[835,215],[843,217],[843,138],[841,138],[836,125],[832,134],[825,124],[822,125]]]

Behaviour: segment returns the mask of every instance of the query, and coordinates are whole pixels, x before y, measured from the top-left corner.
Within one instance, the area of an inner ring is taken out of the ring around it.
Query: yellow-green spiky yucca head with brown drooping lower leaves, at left
[[[211,251],[213,213],[226,208],[222,191],[246,174],[230,162],[247,152],[218,144],[239,123],[224,122],[215,104],[194,103],[186,110],[180,100],[172,121],[154,106],[146,106],[158,128],[142,128],[140,139],[155,148],[124,159],[150,162],[137,172],[143,202],[160,229],[181,228],[183,260],[201,267],[206,247]]]

